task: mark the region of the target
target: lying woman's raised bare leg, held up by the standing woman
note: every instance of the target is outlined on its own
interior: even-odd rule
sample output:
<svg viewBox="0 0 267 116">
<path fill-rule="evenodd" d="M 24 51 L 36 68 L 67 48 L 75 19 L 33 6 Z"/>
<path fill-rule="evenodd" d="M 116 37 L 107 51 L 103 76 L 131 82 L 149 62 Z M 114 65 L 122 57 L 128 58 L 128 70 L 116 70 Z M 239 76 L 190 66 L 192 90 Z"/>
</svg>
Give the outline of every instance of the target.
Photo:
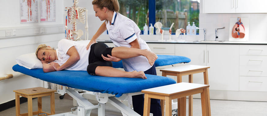
<svg viewBox="0 0 267 116">
<path fill-rule="evenodd" d="M 154 52 L 148 51 L 147 49 L 136 49 L 128 47 L 115 47 L 111 51 L 112 56 L 117 58 L 133 58 L 137 56 L 145 56 L 148 59 L 149 64 L 152 66 L 157 60 L 157 55 Z"/>
</svg>

